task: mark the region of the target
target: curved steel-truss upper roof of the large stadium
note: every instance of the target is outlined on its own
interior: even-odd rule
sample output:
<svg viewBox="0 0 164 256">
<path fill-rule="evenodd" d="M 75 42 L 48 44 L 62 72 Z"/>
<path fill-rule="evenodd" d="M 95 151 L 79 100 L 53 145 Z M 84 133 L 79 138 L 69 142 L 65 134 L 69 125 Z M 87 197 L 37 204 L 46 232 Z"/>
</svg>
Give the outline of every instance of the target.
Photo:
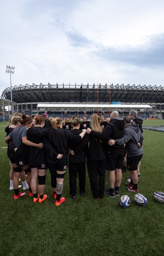
<svg viewBox="0 0 164 256">
<path fill-rule="evenodd" d="M 164 86 L 146 86 L 135 84 L 26 84 L 12 87 L 13 101 L 57 102 L 57 103 L 108 103 L 124 104 L 164 103 Z M 11 100 L 11 88 L 1 95 L 2 99 Z"/>
</svg>

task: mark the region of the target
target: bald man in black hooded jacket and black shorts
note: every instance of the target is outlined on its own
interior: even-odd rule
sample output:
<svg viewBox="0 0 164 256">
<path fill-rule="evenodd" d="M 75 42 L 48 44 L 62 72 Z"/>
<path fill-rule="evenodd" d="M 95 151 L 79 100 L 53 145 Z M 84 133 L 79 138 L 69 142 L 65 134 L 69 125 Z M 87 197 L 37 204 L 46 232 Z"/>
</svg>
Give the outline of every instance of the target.
<svg viewBox="0 0 164 256">
<path fill-rule="evenodd" d="M 102 132 L 95 132 L 91 131 L 91 129 L 87 129 L 87 133 L 90 133 L 99 140 L 108 141 L 110 138 L 119 139 L 124 136 L 124 121 L 119 118 L 119 113 L 117 111 L 113 111 L 110 114 L 109 124 L 103 128 Z M 124 146 L 116 145 L 115 147 L 110 147 L 106 143 L 105 154 L 107 154 L 107 170 L 110 189 L 105 190 L 104 193 L 105 195 L 114 198 L 119 196 L 119 187 L 121 186 Z M 116 187 L 114 188 L 115 182 Z"/>
</svg>

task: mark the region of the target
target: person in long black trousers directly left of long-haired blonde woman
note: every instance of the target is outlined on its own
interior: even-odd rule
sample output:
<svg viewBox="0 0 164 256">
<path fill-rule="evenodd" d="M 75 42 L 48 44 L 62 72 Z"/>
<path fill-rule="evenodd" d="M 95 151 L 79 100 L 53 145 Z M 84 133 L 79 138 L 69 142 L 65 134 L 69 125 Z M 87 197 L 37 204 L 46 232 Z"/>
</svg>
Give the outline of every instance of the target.
<svg viewBox="0 0 164 256">
<path fill-rule="evenodd" d="M 80 120 L 75 118 L 72 121 L 71 133 L 79 135 L 82 131 L 80 130 Z M 89 135 L 86 134 L 83 140 L 78 143 L 70 143 L 70 155 L 69 155 L 69 178 L 70 178 L 70 196 L 75 199 L 77 193 L 77 173 L 79 181 L 79 192 L 83 196 L 86 191 L 86 154 L 89 142 Z"/>
</svg>

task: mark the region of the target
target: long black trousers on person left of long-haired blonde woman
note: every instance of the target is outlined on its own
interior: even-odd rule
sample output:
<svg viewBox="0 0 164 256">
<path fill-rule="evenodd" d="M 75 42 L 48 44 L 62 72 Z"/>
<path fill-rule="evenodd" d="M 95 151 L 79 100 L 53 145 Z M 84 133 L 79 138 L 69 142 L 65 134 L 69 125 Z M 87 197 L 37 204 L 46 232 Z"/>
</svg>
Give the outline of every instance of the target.
<svg viewBox="0 0 164 256">
<path fill-rule="evenodd" d="M 77 193 L 77 173 L 79 180 L 79 191 L 84 193 L 86 188 L 86 162 L 69 162 L 70 195 L 72 196 L 75 196 Z"/>
</svg>

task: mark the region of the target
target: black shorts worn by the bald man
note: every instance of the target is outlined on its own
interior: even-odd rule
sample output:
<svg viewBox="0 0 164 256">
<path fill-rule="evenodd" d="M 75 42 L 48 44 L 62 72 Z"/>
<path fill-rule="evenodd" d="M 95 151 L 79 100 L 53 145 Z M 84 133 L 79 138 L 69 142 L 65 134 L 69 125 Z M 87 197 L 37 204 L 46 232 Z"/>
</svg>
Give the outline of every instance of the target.
<svg viewBox="0 0 164 256">
<path fill-rule="evenodd" d="M 117 169 L 123 169 L 123 160 L 124 160 L 124 152 L 123 154 L 107 154 L 107 170 L 114 171 Z"/>
</svg>

